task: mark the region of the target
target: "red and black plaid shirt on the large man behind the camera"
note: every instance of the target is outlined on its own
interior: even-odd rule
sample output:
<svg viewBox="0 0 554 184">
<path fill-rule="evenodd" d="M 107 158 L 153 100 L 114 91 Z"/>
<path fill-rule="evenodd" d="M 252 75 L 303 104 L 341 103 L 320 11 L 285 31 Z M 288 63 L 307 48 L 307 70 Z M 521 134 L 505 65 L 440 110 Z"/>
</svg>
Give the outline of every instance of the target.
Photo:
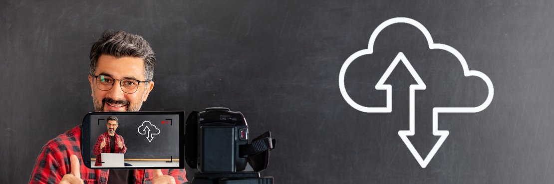
<svg viewBox="0 0 554 184">
<path fill-rule="evenodd" d="M 59 183 L 61 177 L 71 173 L 69 156 L 79 158 L 81 179 L 84 183 L 106 184 L 109 170 L 94 170 L 83 165 L 81 156 L 81 125 L 58 135 L 42 147 L 37 163 L 31 173 L 29 183 Z M 187 182 L 186 172 L 182 169 L 162 170 L 164 175 L 175 178 L 177 183 Z M 135 184 L 152 183 L 153 170 L 135 170 Z"/>
</svg>

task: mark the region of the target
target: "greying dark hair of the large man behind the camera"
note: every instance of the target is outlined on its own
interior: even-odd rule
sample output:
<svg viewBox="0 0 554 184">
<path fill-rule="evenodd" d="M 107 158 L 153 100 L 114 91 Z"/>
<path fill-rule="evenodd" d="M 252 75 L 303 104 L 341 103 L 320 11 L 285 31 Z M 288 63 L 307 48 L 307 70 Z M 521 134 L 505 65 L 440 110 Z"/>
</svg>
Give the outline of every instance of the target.
<svg viewBox="0 0 554 184">
<path fill-rule="evenodd" d="M 144 60 L 146 80 L 152 80 L 154 76 L 154 65 L 156 58 L 150 44 L 146 42 L 140 35 L 126 33 L 122 30 L 114 32 L 114 30 L 105 30 L 102 37 L 93 43 L 90 48 L 90 75 L 94 75 L 96 63 L 100 55 L 106 54 L 116 58 L 121 57 L 137 57 Z"/>
</svg>

